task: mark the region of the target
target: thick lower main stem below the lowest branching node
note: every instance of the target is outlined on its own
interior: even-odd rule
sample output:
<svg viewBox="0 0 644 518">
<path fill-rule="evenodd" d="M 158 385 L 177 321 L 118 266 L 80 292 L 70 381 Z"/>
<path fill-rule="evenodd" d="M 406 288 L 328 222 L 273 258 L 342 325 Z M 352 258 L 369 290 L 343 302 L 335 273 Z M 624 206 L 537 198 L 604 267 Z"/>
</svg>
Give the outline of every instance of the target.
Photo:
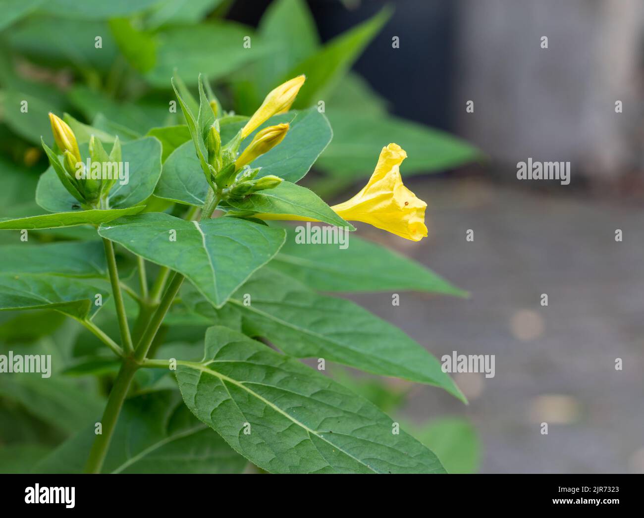
<svg viewBox="0 0 644 518">
<path fill-rule="evenodd" d="M 137 369 L 138 365 L 135 362 L 126 360 L 118 371 L 112 390 L 109 393 L 108 404 L 100 419 L 101 433 L 96 436 L 91 445 L 90 456 L 85 465 L 86 473 L 100 473 L 103 467 L 103 461 L 108 453 L 109 442 L 117 424 L 118 414 L 128 395 L 129 384 Z"/>
</svg>

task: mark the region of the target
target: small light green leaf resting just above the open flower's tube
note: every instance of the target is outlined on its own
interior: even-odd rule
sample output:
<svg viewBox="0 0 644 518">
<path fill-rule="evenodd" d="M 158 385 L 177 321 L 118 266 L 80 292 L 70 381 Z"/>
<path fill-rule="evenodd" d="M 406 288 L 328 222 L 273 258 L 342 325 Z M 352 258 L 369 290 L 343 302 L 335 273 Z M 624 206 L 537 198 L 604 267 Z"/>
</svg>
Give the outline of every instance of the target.
<svg viewBox="0 0 644 518">
<path fill-rule="evenodd" d="M 239 210 L 268 214 L 294 214 L 324 221 L 336 227 L 355 230 L 354 226 L 338 216 L 317 194 L 306 187 L 283 181 L 274 189 L 260 190 L 241 200 L 229 200 Z M 363 263 L 364 267 L 364 263 Z"/>
</svg>

